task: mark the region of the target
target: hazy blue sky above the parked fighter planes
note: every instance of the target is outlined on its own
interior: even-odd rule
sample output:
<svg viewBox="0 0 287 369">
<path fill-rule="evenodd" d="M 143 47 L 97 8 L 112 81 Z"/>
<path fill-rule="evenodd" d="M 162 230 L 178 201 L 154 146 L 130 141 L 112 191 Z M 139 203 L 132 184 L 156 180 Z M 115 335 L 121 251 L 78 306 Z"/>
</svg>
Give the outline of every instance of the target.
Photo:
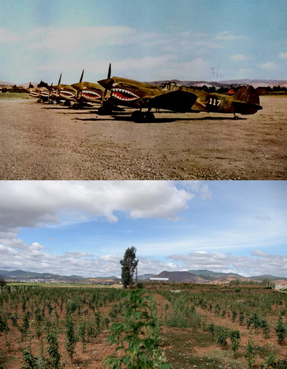
<svg viewBox="0 0 287 369">
<path fill-rule="evenodd" d="M 287 79 L 285 0 L 0 1 L 0 80 Z"/>
</svg>

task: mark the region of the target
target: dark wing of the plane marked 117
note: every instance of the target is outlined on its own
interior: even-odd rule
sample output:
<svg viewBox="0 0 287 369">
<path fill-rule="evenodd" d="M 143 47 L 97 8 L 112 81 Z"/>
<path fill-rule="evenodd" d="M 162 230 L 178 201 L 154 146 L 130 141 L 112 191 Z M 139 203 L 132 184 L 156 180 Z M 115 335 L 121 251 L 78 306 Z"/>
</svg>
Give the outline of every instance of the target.
<svg viewBox="0 0 287 369">
<path fill-rule="evenodd" d="M 163 95 L 151 97 L 147 99 L 147 106 L 149 108 L 158 108 L 173 110 L 178 113 L 186 113 L 191 110 L 192 105 L 195 104 L 197 95 L 187 91 L 172 91 Z"/>
</svg>

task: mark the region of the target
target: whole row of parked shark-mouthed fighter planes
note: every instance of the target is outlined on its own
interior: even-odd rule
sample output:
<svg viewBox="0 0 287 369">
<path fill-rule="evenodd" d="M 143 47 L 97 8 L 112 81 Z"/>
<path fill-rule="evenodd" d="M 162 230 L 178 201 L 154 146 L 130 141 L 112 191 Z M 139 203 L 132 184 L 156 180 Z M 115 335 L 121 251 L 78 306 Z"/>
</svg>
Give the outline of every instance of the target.
<svg viewBox="0 0 287 369">
<path fill-rule="evenodd" d="M 122 107 L 134 108 L 131 118 L 135 122 L 153 122 L 152 109 L 177 113 L 233 113 L 235 119 L 238 119 L 236 113 L 251 115 L 262 109 L 259 95 L 251 85 L 243 86 L 233 95 L 223 95 L 175 83 L 152 85 L 122 77 L 111 78 L 110 65 L 107 78 L 98 83 L 83 82 L 83 74 L 84 71 L 79 83 L 73 85 L 61 84 L 61 74 L 58 85 L 32 88 L 30 95 L 38 102 L 63 102 L 65 106 L 73 103 L 73 108 L 98 104 L 101 115 L 113 114 Z"/>
</svg>

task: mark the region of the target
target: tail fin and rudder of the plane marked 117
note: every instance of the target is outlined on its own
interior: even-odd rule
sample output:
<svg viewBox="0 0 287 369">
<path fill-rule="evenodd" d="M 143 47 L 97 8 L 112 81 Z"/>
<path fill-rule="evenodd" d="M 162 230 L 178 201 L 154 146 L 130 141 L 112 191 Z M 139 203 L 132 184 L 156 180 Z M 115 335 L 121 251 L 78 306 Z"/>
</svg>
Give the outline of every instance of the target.
<svg viewBox="0 0 287 369">
<path fill-rule="evenodd" d="M 234 95 L 232 95 L 233 106 L 236 108 L 236 113 L 240 114 L 254 114 L 257 110 L 261 110 L 259 94 L 253 86 L 247 85 L 240 88 Z"/>
</svg>

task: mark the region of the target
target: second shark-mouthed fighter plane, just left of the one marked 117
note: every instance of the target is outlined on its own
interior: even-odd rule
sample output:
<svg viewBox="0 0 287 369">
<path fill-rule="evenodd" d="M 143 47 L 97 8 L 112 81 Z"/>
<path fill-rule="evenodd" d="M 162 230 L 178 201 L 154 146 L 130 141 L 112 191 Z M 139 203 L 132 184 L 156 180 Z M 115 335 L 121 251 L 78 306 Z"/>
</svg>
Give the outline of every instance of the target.
<svg viewBox="0 0 287 369">
<path fill-rule="evenodd" d="M 81 106 L 90 106 L 89 104 L 101 104 L 103 101 L 104 88 L 98 83 L 82 82 L 83 73 L 79 83 L 74 83 L 72 88 L 77 91 L 76 103 L 73 108 L 81 108 Z"/>
</svg>

